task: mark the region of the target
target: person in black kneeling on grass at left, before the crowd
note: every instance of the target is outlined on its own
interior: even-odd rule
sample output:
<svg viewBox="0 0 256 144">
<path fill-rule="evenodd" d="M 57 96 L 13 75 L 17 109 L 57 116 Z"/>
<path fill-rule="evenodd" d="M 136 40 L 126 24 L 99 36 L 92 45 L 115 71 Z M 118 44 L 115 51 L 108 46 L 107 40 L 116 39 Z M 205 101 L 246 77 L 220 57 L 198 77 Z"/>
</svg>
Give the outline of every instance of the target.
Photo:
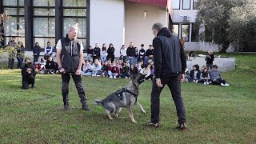
<svg viewBox="0 0 256 144">
<path fill-rule="evenodd" d="M 36 72 L 30 62 L 30 58 L 25 59 L 25 65 L 22 67 L 22 89 L 28 89 L 29 85 L 32 84 L 34 88 L 34 79 Z"/>
</svg>

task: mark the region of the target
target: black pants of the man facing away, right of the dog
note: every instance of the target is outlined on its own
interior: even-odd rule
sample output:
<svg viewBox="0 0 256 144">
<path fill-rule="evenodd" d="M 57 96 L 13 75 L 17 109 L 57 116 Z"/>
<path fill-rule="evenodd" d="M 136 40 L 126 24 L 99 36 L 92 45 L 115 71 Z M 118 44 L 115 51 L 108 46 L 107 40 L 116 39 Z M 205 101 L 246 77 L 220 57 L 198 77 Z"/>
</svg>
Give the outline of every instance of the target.
<svg viewBox="0 0 256 144">
<path fill-rule="evenodd" d="M 160 93 L 164 86 L 167 85 L 176 106 L 178 124 L 186 123 L 186 110 L 182 100 L 180 75 L 161 78 L 161 82 L 163 86 L 160 88 L 157 86 L 155 78 L 153 80 L 151 92 L 151 122 L 159 122 Z"/>
</svg>

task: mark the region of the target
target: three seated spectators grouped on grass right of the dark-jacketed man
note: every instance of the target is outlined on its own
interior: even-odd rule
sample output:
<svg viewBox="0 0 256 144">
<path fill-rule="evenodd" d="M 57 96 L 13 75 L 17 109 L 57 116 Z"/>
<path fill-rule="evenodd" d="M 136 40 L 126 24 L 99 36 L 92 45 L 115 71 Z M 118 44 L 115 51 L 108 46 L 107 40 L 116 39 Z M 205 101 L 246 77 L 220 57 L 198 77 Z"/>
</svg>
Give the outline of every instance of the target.
<svg viewBox="0 0 256 144">
<path fill-rule="evenodd" d="M 206 66 L 202 66 L 202 69 L 199 70 L 198 65 L 193 66 L 193 70 L 190 71 L 190 74 L 186 72 L 186 81 L 185 82 L 202 82 L 204 85 L 219 85 L 219 86 L 230 86 L 226 83 L 226 80 L 222 78 L 221 72 L 218 70 L 218 66 L 214 65 L 213 70 L 209 70 Z"/>
</svg>

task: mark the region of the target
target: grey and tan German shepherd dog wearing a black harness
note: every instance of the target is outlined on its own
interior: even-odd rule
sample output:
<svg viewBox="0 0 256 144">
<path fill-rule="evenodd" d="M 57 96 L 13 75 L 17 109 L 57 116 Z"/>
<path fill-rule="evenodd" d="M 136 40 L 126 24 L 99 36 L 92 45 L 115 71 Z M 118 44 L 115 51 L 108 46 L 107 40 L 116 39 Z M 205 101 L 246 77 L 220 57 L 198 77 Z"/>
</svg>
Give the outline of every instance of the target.
<svg viewBox="0 0 256 144">
<path fill-rule="evenodd" d="M 111 114 L 114 114 L 115 117 L 118 117 L 118 113 L 122 110 L 122 107 L 128 109 L 128 114 L 132 122 L 136 123 L 134 120 L 134 114 L 131 110 L 132 105 L 136 105 L 142 110 L 142 113 L 146 114 L 146 111 L 143 109 L 142 105 L 137 102 L 139 87 L 142 82 L 145 80 L 145 75 L 143 74 L 134 74 L 131 76 L 131 80 L 127 86 L 118 90 L 105 99 L 95 100 L 95 103 L 102 105 L 106 110 L 106 115 L 110 120 L 112 120 Z"/>
</svg>

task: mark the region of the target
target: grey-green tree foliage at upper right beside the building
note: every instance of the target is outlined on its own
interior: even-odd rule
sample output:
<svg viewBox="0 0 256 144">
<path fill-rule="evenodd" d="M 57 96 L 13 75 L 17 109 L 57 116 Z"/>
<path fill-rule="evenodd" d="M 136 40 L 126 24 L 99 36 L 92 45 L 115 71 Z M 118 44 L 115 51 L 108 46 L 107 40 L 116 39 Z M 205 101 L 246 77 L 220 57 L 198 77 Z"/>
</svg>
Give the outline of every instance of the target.
<svg viewBox="0 0 256 144">
<path fill-rule="evenodd" d="M 254 0 L 198 0 L 197 7 L 196 22 L 205 24 L 202 40 L 217 44 L 221 52 L 230 44 L 250 43 L 243 36 L 255 34 Z"/>
</svg>

